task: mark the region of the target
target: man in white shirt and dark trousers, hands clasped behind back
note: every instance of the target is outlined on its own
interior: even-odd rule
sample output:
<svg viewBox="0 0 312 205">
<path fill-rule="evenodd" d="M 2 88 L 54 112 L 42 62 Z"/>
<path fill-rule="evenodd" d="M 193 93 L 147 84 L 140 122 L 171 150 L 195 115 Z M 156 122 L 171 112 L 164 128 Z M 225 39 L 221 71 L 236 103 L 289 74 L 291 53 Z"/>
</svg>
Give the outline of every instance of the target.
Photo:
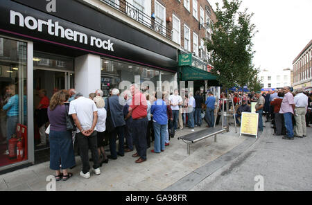
<svg viewBox="0 0 312 205">
<path fill-rule="evenodd" d="M 97 150 L 97 133 L 95 129 L 98 121 L 98 109 L 93 100 L 85 98 L 81 93 L 77 93 L 76 98 L 69 105 L 69 115 L 73 117 L 73 121 L 77 127 L 80 157 L 83 162 L 83 170 L 80 172 L 80 176 L 89 178 L 89 149 L 92 152 L 92 159 L 94 161 L 94 172 L 96 175 L 101 174 Z"/>
</svg>

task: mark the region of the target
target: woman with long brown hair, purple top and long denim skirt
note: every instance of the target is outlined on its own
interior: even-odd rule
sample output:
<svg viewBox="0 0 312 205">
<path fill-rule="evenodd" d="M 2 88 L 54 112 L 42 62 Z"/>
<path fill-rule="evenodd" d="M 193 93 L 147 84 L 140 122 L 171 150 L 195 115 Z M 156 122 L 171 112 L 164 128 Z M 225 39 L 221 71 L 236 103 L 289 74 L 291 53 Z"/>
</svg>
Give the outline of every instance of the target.
<svg viewBox="0 0 312 205">
<path fill-rule="evenodd" d="M 66 181 L 72 177 L 73 174 L 67 172 L 67 168 L 76 166 L 71 131 L 66 129 L 68 107 L 64 105 L 64 102 L 68 99 L 69 93 L 67 90 L 58 91 L 52 96 L 48 108 L 50 121 L 50 168 L 56 172 L 56 181 L 60 181 L 60 179 Z M 62 166 L 62 175 L 60 173 L 60 165 Z"/>
</svg>

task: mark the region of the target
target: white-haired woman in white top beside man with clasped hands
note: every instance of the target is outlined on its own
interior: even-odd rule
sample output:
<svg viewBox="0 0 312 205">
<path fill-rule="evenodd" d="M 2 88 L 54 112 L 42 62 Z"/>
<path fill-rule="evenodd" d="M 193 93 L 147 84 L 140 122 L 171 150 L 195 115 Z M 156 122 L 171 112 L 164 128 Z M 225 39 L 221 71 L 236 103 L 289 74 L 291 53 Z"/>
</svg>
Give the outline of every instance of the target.
<svg viewBox="0 0 312 205">
<path fill-rule="evenodd" d="M 105 139 L 105 123 L 106 123 L 106 109 L 104 108 L 105 102 L 101 96 L 96 96 L 93 98 L 94 103 L 96 104 L 96 107 L 98 108 L 98 122 L 96 123 L 96 131 L 98 132 L 97 141 L 98 141 L 98 160 L 100 163 L 100 166 L 102 166 L 102 163 L 107 163 L 108 158 L 105 154 L 104 150 L 104 141 L 107 141 Z M 102 154 L 102 155 L 101 155 Z M 101 157 L 102 156 L 102 157 Z M 102 159 L 101 159 L 102 158 Z"/>
</svg>

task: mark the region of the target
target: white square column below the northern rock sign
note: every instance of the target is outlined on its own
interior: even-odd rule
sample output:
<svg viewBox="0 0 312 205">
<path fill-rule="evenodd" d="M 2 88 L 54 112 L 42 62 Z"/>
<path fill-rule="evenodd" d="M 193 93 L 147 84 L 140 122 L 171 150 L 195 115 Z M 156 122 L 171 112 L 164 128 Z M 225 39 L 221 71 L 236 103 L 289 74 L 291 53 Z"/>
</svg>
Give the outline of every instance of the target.
<svg viewBox="0 0 312 205">
<path fill-rule="evenodd" d="M 101 89 L 101 57 L 87 54 L 75 58 L 75 89 L 88 97 Z"/>
</svg>

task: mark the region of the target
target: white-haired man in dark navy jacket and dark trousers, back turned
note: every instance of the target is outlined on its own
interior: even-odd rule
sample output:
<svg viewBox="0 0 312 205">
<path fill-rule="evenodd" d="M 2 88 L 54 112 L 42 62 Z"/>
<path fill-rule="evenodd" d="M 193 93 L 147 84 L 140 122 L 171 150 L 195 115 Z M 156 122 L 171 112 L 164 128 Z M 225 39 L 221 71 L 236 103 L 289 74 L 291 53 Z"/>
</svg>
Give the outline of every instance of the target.
<svg viewBox="0 0 312 205">
<path fill-rule="evenodd" d="M 124 99 L 119 98 L 119 89 L 112 89 L 112 96 L 105 99 L 105 109 L 107 118 L 111 118 L 114 130 L 110 133 L 110 155 L 109 159 L 117 159 L 117 154 L 124 156 L 124 133 L 125 133 L 125 118 L 123 116 Z M 109 108 L 108 108 L 109 107 Z M 109 119 L 107 119 L 109 120 Z M 116 139 L 118 134 L 119 150 L 116 152 Z"/>
</svg>

